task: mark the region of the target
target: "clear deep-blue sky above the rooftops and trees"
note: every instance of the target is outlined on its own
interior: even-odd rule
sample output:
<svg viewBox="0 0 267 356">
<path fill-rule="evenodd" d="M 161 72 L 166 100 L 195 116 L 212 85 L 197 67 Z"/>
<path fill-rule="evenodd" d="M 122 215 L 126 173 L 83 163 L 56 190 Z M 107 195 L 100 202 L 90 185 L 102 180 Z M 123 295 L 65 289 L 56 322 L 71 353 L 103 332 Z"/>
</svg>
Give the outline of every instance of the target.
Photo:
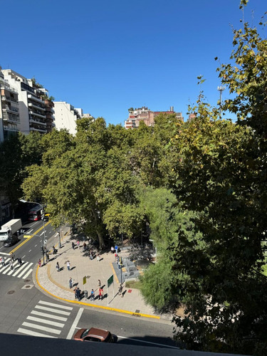
<svg viewBox="0 0 267 356">
<path fill-rule="evenodd" d="M 251 0 L 245 19 L 257 25 L 266 10 L 266 0 Z M 216 105 L 214 58 L 229 62 L 231 25 L 240 28 L 241 18 L 239 0 L 1 1 L 0 66 L 107 123 L 142 105 L 173 105 L 187 119 L 198 75 Z"/>
</svg>

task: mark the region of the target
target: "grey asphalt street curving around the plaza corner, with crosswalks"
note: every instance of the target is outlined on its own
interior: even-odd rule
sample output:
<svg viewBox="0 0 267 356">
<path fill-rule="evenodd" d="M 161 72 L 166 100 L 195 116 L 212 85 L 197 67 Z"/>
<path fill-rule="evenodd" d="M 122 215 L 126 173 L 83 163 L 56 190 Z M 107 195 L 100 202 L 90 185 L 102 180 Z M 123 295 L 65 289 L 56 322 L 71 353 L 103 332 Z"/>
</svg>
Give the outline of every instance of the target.
<svg viewBox="0 0 267 356">
<path fill-rule="evenodd" d="M 0 247 L 0 256 L 21 256 L 23 266 L 14 263 L 0 266 L 0 333 L 58 337 L 71 339 L 79 328 L 103 328 L 117 336 L 117 342 L 130 345 L 175 347 L 172 341 L 173 325 L 167 320 L 147 320 L 108 311 L 80 308 L 41 293 L 33 283 L 33 269 L 41 258 L 41 244 L 45 234 L 47 246 L 57 242 L 56 232 L 46 222 L 31 222 L 23 226 L 24 236 L 11 248 Z M 54 237 L 54 239 L 53 239 Z"/>
</svg>

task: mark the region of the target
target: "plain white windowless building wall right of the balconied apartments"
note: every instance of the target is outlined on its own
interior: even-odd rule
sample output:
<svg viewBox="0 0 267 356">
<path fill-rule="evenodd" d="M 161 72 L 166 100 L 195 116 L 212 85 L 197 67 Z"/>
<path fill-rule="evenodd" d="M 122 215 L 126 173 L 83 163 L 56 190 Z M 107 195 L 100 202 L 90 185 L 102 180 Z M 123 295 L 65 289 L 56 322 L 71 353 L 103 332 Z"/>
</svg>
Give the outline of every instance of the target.
<svg viewBox="0 0 267 356">
<path fill-rule="evenodd" d="M 54 105 L 56 129 L 67 129 L 70 134 L 75 135 L 76 120 L 83 115 L 83 109 L 76 109 L 66 101 L 55 101 Z"/>
</svg>

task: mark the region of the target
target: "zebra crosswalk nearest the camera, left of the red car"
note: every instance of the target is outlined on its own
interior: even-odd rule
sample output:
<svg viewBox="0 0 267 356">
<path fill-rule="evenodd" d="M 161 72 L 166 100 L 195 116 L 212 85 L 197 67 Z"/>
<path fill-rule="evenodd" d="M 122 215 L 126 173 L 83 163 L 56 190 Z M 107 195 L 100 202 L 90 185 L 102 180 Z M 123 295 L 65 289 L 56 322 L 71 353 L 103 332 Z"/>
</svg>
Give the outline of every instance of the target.
<svg viewBox="0 0 267 356">
<path fill-rule="evenodd" d="M 73 308 L 67 305 L 39 300 L 26 321 L 22 323 L 21 328 L 18 329 L 18 333 L 57 338 L 61 335 L 71 310 Z"/>
</svg>

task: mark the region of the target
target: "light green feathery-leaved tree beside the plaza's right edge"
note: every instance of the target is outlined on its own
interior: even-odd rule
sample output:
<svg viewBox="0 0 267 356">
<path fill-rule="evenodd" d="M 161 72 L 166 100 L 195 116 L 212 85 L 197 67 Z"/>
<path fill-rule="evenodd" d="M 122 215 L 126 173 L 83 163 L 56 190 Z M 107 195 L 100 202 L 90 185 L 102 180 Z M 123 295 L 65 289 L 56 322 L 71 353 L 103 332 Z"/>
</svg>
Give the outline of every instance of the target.
<svg viewBox="0 0 267 356">
<path fill-rule="evenodd" d="M 186 239 L 192 253 L 197 253 L 199 246 L 203 248 L 201 234 L 194 232 L 195 214 L 182 210 L 174 194 L 165 188 L 143 189 L 140 201 L 140 209 L 144 210 L 150 225 L 150 239 L 157 247 L 157 263 L 147 268 L 141 278 L 142 295 L 159 312 L 174 312 L 185 302 L 181 292 L 188 278 L 177 268 L 179 252 L 173 246 L 177 246 L 179 239 Z"/>
</svg>

